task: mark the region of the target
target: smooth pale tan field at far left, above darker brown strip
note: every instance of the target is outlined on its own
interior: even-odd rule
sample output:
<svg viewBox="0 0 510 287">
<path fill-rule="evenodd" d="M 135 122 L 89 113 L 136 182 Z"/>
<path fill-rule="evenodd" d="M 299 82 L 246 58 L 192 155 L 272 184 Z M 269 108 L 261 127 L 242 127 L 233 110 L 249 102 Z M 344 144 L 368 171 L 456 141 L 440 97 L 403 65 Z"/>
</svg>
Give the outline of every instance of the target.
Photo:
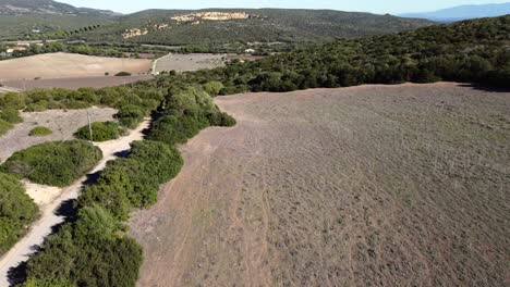
<svg viewBox="0 0 510 287">
<path fill-rule="evenodd" d="M 90 77 L 106 72 L 146 74 L 153 67 L 150 60 L 92 57 L 72 53 L 49 53 L 0 61 L 0 80 Z"/>
</svg>

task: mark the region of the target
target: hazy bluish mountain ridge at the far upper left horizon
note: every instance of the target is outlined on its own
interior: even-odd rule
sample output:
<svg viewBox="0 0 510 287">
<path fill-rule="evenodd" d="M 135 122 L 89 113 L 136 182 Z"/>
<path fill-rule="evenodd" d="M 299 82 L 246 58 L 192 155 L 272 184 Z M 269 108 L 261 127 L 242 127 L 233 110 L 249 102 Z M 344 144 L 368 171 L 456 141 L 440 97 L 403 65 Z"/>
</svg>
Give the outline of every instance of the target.
<svg viewBox="0 0 510 287">
<path fill-rule="evenodd" d="M 96 10 L 88 8 L 75 8 L 70 4 L 52 0 L 0 0 L 0 15 L 110 15 L 119 13 L 108 10 Z"/>
</svg>

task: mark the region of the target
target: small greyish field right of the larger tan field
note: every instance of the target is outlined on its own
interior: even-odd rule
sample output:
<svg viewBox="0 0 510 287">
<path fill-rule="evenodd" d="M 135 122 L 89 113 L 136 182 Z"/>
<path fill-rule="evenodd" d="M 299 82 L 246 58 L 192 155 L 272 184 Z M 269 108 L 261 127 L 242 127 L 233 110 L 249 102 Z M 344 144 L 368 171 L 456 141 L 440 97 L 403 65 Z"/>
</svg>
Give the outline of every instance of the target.
<svg viewBox="0 0 510 287">
<path fill-rule="evenodd" d="M 208 53 L 167 54 L 156 61 L 154 72 L 186 72 L 202 68 L 214 68 L 222 66 L 224 64 L 226 57 L 227 54 Z"/>
</svg>

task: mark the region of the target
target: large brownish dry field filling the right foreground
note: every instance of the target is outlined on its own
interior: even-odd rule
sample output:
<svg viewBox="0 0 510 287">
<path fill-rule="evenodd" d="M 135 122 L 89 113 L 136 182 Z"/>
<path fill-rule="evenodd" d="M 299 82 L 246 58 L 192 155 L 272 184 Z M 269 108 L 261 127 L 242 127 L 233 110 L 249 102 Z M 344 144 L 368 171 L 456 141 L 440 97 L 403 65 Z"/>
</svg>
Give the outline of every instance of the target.
<svg viewBox="0 0 510 287">
<path fill-rule="evenodd" d="M 217 98 L 234 128 L 134 214 L 139 286 L 508 286 L 510 93 L 457 84 Z"/>
</svg>

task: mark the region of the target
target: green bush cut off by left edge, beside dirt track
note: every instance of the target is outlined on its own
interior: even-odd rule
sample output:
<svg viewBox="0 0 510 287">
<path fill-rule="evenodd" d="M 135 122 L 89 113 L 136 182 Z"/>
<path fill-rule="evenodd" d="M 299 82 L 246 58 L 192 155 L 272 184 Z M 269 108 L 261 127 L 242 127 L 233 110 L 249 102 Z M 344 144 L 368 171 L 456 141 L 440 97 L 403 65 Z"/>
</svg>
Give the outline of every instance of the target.
<svg viewBox="0 0 510 287">
<path fill-rule="evenodd" d="M 22 237 L 38 214 L 17 178 L 0 173 L 0 255 Z"/>
</svg>

